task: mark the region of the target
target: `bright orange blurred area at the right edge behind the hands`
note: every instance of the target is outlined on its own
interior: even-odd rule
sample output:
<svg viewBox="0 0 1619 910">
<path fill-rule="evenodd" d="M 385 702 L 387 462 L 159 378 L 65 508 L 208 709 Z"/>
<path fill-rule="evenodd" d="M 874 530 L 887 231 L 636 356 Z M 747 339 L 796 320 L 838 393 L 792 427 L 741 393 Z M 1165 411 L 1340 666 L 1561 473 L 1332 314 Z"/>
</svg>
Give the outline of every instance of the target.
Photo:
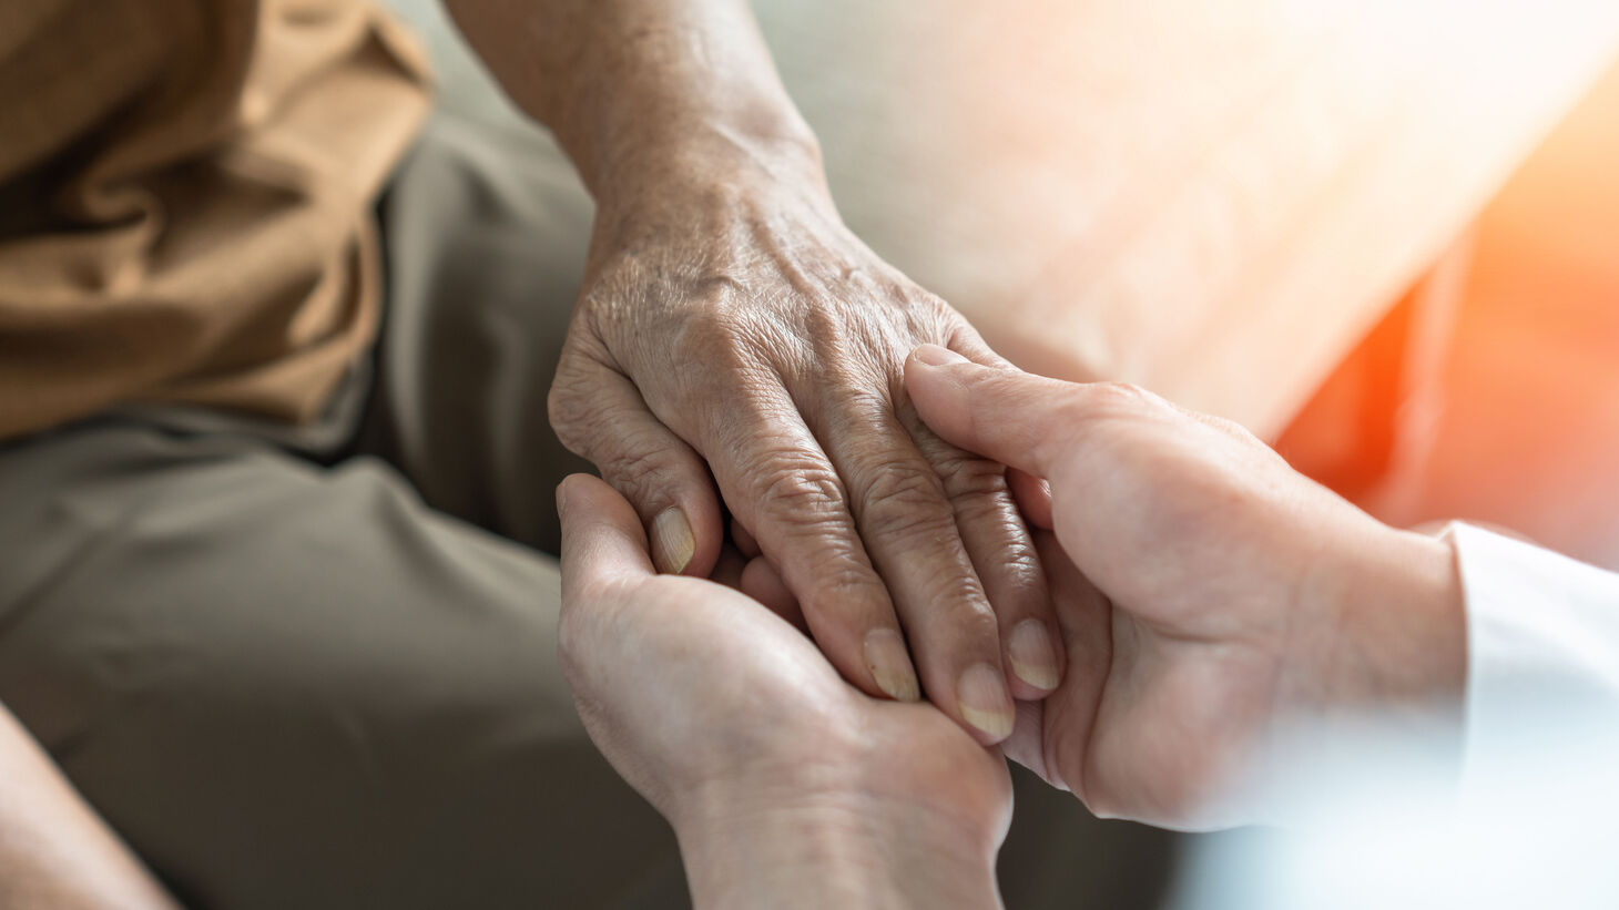
<svg viewBox="0 0 1619 910">
<path fill-rule="evenodd" d="M 1438 400 L 1431 419 L 1368 397 L 1394 379 L 1376 376 L 1384 325 L 1282 436 L 1289 460 L 1384 521 L 1485 521 L 1619 568 L 1616 162 L 1619 60 L 1470 232 L 1436 389 L 1415 389 Z M 1399 434 L 1392 453 L 1355 436 L 1375 421 Z"/>
</svg>

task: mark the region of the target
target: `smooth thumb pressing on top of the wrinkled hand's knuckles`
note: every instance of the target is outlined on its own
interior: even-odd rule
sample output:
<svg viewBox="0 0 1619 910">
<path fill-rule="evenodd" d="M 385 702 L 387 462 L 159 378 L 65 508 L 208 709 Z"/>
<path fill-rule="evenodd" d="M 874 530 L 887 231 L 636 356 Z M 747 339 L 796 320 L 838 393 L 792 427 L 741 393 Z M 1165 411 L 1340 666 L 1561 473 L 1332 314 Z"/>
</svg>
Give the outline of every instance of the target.
<svg viewBox="0 0 1619 910">
<path fill-rule="evenodd" d="M 941 439 L 1009 468 L 1049 478 L 1073 439 L 1085 385 L 979 366 L 923 345 L 905 361 L 905 389 Z"/>
</svg>

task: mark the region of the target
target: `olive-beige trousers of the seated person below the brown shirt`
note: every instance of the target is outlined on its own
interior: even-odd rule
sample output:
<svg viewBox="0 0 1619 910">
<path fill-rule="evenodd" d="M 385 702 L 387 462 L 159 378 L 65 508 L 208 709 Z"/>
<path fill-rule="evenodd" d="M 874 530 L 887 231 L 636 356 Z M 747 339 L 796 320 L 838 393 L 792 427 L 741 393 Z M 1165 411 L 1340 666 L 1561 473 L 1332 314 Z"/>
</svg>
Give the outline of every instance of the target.
<svg viewBox="0 0 1619 910">
<path fill-rule="evenodd" d="M 589 210 L 528 136 L 434 120 L 382 206 L 371 381 L 324 423 L 126 410 L 0 447 L 0 703 L 188 902 L 685 902 L 557 672 L 542 551 L 581 465 L 544 395 Z M 1012 907 L 1161 886 L 1154 832 L 1018 797 Z"/>
</svg>

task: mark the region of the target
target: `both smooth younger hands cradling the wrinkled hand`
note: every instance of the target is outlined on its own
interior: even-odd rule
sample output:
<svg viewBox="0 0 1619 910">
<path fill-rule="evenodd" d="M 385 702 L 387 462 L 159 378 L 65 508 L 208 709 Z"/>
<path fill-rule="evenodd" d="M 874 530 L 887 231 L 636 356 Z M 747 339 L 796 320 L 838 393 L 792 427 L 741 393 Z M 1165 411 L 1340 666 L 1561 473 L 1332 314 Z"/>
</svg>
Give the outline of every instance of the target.
<svg viewBox="0 0 1619 910">
<path fill-rule="evenodd" d="M 1227 787 L 1285 717 L 1460 691 L 1451 547 L 1375 521 L 1243 429 L 931 345 L 905 361 L 905 389 L 939 439 L 1012 468 L 1067 672 L 1018 703 L 1004 751 L 1093 811 L 1247 821 L 1255 806 Z M 835 881 L 848 850 L 865 894 L 931 881 L 941 902 L 973 904 L 992 887 L 1009 784 L 949 711 L 871 698 L 758 601 L 657 575 L 607 484 L 570 478 L 559 502 L 565 669 L 593 738 L 675 824 L 699 897 L 746 887 L 748 855 L 790 878 L 758 855 L 771 831 L 843 845 L 805 855 L 806 882 Z M 928 874 L 905 874 L 923 855 Z"/>
</svg>

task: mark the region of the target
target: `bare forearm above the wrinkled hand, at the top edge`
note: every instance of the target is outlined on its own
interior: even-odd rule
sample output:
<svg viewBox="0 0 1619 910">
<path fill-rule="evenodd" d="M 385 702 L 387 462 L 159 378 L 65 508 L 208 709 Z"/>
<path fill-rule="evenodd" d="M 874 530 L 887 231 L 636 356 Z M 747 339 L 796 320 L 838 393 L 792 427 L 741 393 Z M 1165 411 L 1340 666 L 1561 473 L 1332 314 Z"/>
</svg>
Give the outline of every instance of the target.
<svg viewBox="0 0 1619 910">
<path fill-rule="evenodd" d="M 814 138 L 745 0 L 445 5 L 507 94 L 557 133 L 597 201 L 738 155 L 819 180 Z"/>
</svg>

